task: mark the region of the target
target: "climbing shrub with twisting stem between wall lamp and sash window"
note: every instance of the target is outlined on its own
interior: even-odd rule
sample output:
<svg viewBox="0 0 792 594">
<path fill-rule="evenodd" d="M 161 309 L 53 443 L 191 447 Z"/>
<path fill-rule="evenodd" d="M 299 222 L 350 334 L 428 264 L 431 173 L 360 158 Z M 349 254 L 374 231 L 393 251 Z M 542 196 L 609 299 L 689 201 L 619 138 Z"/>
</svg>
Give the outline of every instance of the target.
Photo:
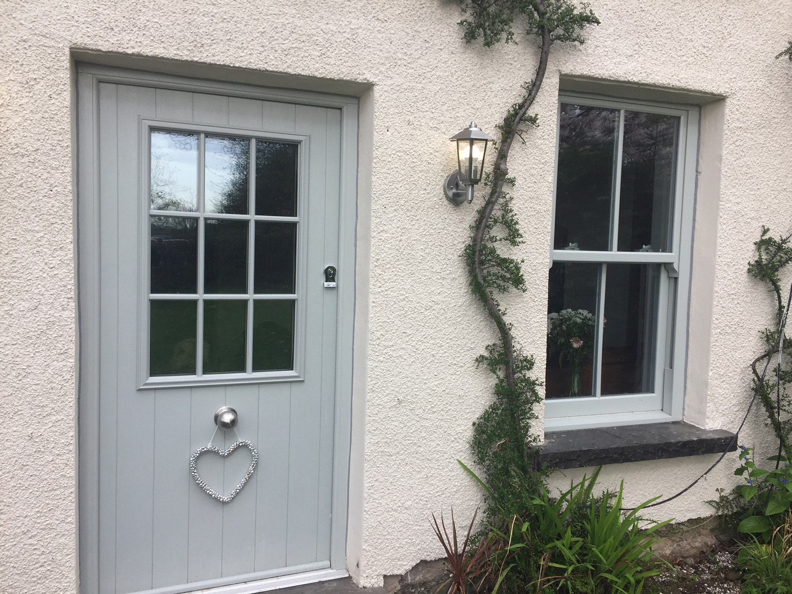
<svg viewBox="0 0 792 594">
<path fill-rule="evenodd" d="M 492 172 L 485 178 L 489 195 L 478 210 L 470 243 L 465 247 L 465 257 L 470 276 L 470 287 L 482 302 L 489 318 L 493 320 L 500 341 L 489 345 L 485 355 L 478 357 L 497 375 L 495 400 L 485 409 L 474 424 L 471 449 L 474 458 L 485 474 L 490 488 L 508 489 L 515 480 L 515 470 L 522 477 L 533 472 L 530 444 L 530 421 L 535 419 L 534 406 L 539 402 L 539 383 L 530 377 L 533 357 L 524 355 L 516 347 L 512 326 L 506 321 L 506 312 L 498 303 L 496 293 L 510 288 L 525 291 L 521 261 L 498 252 L 501 242 L 510 246 L 522 243 L 522 234 L 506 185 L 513 185 L 508 176 L 508 154 L 521 126 L 537 125 L 538 116 L 529 114 L 547 70 L 550 47 L 554 42 L 582 44 L 581 31 L 586 25 L 597 25 L 599 20 L 588 5 L 575 6 L 569 0 L 459 0 L 467 17 L 460 21 L 467 41 L 482 39 L 485 47 L 501 40 L 516 43 L 512 29 L 516 19 L 524 26 L 528 36 L 541 41 L 539 63 L 534 78 L 523 85 L 523 96 L 506 113 L 498 129 L 497 154 Z M 522 138 L 522 136 L 520 136 Z M 516 479 L 518 482 L 520 478 Z M 512 490 L 512 489 L 509 489 Z"/>
</svg>

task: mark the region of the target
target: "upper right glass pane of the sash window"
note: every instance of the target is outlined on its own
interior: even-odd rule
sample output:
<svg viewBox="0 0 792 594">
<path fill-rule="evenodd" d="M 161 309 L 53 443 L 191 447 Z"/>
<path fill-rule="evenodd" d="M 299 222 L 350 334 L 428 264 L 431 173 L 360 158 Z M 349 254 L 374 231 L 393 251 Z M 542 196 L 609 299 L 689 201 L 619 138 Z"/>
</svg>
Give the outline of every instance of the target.
<svg viewBox="0 0 792 594">
<path fill-rule="evenodd" d="M 624 112 L 619 251 L 668 252 L 680 119 Z"/>
</svg>

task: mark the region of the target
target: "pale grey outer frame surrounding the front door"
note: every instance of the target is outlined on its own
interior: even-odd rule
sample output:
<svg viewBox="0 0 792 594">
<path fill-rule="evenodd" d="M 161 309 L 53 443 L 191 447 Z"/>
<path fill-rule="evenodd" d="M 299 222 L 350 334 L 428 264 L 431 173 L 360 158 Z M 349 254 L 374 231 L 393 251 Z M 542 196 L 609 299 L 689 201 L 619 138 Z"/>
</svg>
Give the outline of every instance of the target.
<svg viewBox="0 0 792 594">
<path fill-rule="evenodd" d="M 358 111 L 357 97 L 270 89 L 200 78 L 181 78 L 90 63 L 76 63 L 76 228 L 78 280 L 78 543 L 81 592 L 97 592 L 99 527 L 99 160 L 98 88 L 101 82 L 193 93 L 219 94 L 299 105 L 316 105 L 341 110 L 341 177 L 339 245 L 337 268 L 336 383 L 333 432 L 333 505 L 330 527 L 330 569 L 291 579 L 274 577 L 258 580 L 242 577 L 247 584 L 221 588 L 223 592 L 244 594 L 321 581 L 347 575 L 347 523 L 349 457 L 352 439 L 352 339 L 355 316 L 356 218 Z M 330 263 L 332 264 L 332 263 Z M 185 462 L 185 472 L 187 472 Z M 320 575 L 321 574 L 321 575 Z M 256 581 L 249 581 L 256 579 Z M 212 588 L 230 584 L 220 578 L 215 584 L 194 584 Z M 179 590 L 180 592 L 183 590 Z"/>
</svg>

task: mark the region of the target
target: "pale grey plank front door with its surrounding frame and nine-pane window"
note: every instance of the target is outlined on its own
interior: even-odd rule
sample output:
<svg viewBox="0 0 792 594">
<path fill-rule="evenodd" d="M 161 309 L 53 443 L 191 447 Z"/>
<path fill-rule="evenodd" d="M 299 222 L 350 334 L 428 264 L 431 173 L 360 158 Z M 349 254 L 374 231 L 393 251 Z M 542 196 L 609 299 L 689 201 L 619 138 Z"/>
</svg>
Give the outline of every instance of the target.
<svg viewBox="0 0 792 594">
<path fill-rule="evenodd" d="M 82 592 L 343 570 L 353 104 L 101 73 L 78 74 Z M 225 504 L 188 470 L 221 406 L 212 443 L 259 455 Z M 250 463 L 198 470 L 226 495 Z"/>
</svg>

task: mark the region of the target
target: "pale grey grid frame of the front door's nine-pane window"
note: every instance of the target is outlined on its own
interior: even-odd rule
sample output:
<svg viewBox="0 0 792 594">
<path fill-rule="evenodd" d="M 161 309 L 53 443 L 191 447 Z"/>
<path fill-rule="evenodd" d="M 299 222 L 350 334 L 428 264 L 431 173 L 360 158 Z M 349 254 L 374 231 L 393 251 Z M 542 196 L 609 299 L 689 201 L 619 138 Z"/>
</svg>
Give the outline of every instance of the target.
<svg viewBox="0 0 792 594">
<path fill-rule="evenodd" d="M 251 141 L 251 152 L 248 162 L 248 215 L 227 215 L 221 213 L 211 213 L 205 211 L 204 196 L 204 142 L 199 141 L 198 150 L 198 185 L 197 185 L 197 204 L 196 211 L 158 211 L 150 205 L 150 161 L 151 144 L 150 135 L 152 131 L 174 131 L 188 134 L 197 134 L 200 139 L 206 136 L 227 136 L 234 138 L 245 138 Z M 306 319 L 307 301 L 303 295 L 306 294 L 307 287 L 307 267 L 305 258 L 307 257 L 307 204 L 308 196 L 308 172 L 305 166 L 305 155 L 309 154 L 310 137 L 308 135 L 287 134 L 270 131 L 254 131 L 244 128 L 234 128 L 231 126 L 212 126 L 204 124 L 192 124 L 176 122 L 171 120 L 140 120 L 140 147 L 139 147 L 139 178 L 140 188 L 143 195 L 139 200 L 140 224 L 139 224 L 139 330 L 138 330 L 138 390 L 156 390 L 166 387 L 200 387 L 215 385 L 232 385 L 240 383 L 272 383 L 272 382 L 302 382 L 305 372 L 305 350 L 306 350 L 306 328 L 303 320 Z M 297 150 L 297 212 L 295 217 L 256 215 L 255 214 L 255 140 L 294 143 L 298 145 Z M 150 273 L 151 273 L 151 249 L 150 249 L 150 217 L 151 216 L 180 216 L 194 218 L 198 221 L 198 248 L 196 255 L 196 266 L 198 267 L 198 287 L 202 276 L 200 271 L 204 267 L 204 220 L 223 219 L 223 220 L 243 220 L 249 223 L 248 227 L 248 291 L 239 294 L 206 294 L 201 290 L 197 294 L 176 294 L 158 295 L 150 292 Z M 255 234 L 255 224 L 258 221 L 274 222 L 293 222 L 297 224 L 297 245 L 295 254 L 295 293 L 254 293 L 252 272 L 254 268 L 254 244 L 253 235 Z M 252 348 L 252 304 L 261 299 L 291 299 L 295 301 L 294 318 L 294 344 L 292 345 L 293 367 L 287 371 L 242 371 L 234 373 L 208 373 L 200 375 L 150 375 L 150 314 L 149 303 L 151 299 L 177 299 L 197 301 L 196 318 L 196 363 L 201 362 L 203 335 L 203 303 L 209 300 L 238 300 L 248 302 L 247 322 L 246 322 L 246 367 L 249 366 Z M 198 371 L 200 367 L 196 369 Z"/>
</svg>

